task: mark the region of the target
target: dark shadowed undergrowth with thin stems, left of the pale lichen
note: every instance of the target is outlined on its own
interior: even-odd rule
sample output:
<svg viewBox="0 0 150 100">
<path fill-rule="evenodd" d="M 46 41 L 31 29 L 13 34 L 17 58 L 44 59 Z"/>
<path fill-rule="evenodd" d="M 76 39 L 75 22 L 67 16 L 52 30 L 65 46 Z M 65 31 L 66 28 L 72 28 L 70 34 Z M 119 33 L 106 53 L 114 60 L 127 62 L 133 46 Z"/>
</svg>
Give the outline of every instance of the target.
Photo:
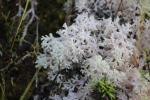
<svg viewBox="0 0 150 100">
<path fill-rule="evenodd" d="M 0 0 L 1 100 L 19 100 L 36 73 L 35 60 L 40 50 L 39 37 L 55 32 L 65 20 L 63 10 L 65 0 L 38 0 L 38 4 L 34 7 L 38 19 L 37 17 L 33 19 L 23 37 L 25 26 L 32 17 L 32 13 L 27 15 L 32 8 L 31 1 L 36 0 Z M 31 83 L 26 99 L 32 98 L 37 89 L 35 78 Z"/>
</svg>

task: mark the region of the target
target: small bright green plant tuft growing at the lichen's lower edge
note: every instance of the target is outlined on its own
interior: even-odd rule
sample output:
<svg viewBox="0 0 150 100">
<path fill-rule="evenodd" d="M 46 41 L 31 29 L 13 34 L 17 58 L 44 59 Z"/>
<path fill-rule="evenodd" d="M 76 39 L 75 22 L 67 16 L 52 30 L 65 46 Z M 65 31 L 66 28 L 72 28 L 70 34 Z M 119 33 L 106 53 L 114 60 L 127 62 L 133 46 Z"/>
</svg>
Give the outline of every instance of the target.
<svg viewBox="0 0 150 100">
<path fill-rule="evenodd" d="M 109 100 L 116 100 L 116 90 L 115 86 L 113 83 L 110 83 L 109 81 L 106 80 L 106 78 L 101 79 L 97 83 L 97 89 L 98 92 L 100 93 L 100 100 L 103 100 L 104 97 L 109 98 Z"/>
</svg>

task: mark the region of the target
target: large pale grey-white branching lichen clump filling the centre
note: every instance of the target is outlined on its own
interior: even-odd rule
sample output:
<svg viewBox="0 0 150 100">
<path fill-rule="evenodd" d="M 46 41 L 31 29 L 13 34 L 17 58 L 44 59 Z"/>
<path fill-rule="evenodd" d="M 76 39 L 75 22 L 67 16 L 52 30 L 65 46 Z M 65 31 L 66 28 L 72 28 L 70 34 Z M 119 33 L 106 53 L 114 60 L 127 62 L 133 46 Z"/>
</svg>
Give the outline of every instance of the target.
<svg viewBox="0 0 150 100">
<path fill-rule="evenodd" d="M 48 68 L 49 79 L 56 78 L 56 82 L 63 85 L 61 89 L 68 90 L 68 96 L 61 97 L 62 100 L 84 100 L 90 96 L 89 84 L 103 77 L 107 77 L 116 87 L 122 89 L 123 92 L 118 91 L 118 98 L 127 98 L 127 93 L 133 100 L 136 95 L 150 88 L 149 83 L 141 78 L 139 69 L 133 68 L 134 64 L 130 61 L 137 50 L 136 40 L 132 35 L 136 34 L 135 24 L 138 18 L 135 18 L 134 24 L 129 24 L 129 20 L 120 24 L 119 17 L 113 20 L 98 18 L 95 14 L 105 4 L 108 8 L 113 5 L 112 10 L 116 10 L 115 5 L 119 5 L 120 0 L 110 1 L 76 0 L 75 7 L 79 14 L 74 23 L 70 26 L 64 23 L 63 28 L 56 32 L 60 35 L 58 38 L 52 34 L 42 37 L 43 53 L 37 57 L 36 64 L 37 67 Z M 132 13 L 137 6 L 126 4 L 123 12 Z M 92 12 L 93 9 L 95 13 Z M 128 19 L 128 15 L 125 17 Z M 75 73 L 71 78 L 66 78 L 65 74 L 60 73 L 62 70 L 75 68 L 79 68 L 84 77 Z M 79 84 L 80 82 L 84 85 Z M 129 91 L 127 85 L 133 89 Z M 73 92 L 75 86 L 78 86 L 77 93 Z M 55 94 L 51 98 L 57 100 L 60 96 Z"/>
</svg>

